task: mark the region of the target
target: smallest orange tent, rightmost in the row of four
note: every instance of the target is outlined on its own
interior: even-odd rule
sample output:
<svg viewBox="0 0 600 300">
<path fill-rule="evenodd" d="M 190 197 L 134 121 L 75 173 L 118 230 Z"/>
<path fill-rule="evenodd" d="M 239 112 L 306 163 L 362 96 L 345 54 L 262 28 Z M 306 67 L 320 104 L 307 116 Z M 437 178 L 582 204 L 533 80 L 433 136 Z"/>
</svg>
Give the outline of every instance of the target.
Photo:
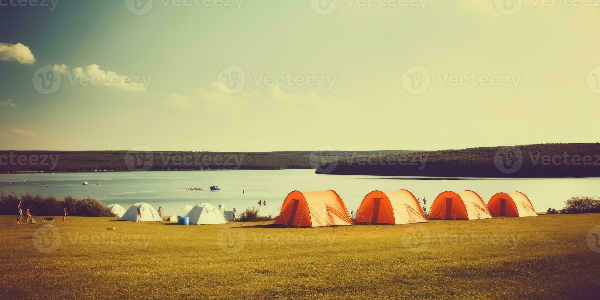
<svg viewBox="0 0 600 300">
<path fill-rule="evenodd" d="M 529 198 L 520 191 L 497 193 L 488 202 L 488 209 L 494 217 L 536 217 Z"/>
</svg>

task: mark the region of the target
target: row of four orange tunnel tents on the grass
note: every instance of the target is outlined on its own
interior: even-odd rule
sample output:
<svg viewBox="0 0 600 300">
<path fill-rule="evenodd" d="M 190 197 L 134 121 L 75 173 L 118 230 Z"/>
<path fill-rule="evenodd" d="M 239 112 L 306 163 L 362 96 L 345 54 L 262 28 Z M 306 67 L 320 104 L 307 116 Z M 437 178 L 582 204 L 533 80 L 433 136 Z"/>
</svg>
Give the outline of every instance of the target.
<svg viewBox="0 0 600 300">
<path fill-rule="evenodd" d="M 495 194 L 485 205 L 474 191 L 445 191 L 436 197 L 427 218 L 410 191 L 372 191 L 362 199 L 353 223 L 335 191 L 292 191 L 283 201 L 281 214 L 274 224 L 293 227 L 412 224 L 425 223 L 428 219 L 482 220 L 536 215 L 529 198 L 521 192 Z"/>
</svg>

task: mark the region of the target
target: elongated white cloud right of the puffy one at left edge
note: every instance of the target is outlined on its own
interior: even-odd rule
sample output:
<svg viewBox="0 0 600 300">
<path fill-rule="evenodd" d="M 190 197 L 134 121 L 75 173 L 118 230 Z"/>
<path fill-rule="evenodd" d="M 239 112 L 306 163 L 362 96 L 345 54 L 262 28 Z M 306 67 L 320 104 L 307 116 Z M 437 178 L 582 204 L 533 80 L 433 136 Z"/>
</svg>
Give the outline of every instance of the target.
<svg viewBox="0 0 600 300">
<path fill-rule="evenodd" d="M 61 70 L 62 66 L 55 65 L 55 68 Z M 82 84 L 86 82 L 86 85 L 111 86 L 128 91 L 145 91 L 152 79 L 152 76 L 120 75 L 113 71 L 104 71 L 97 64 L 74 68 L 71 71 Z"/>
</svg>

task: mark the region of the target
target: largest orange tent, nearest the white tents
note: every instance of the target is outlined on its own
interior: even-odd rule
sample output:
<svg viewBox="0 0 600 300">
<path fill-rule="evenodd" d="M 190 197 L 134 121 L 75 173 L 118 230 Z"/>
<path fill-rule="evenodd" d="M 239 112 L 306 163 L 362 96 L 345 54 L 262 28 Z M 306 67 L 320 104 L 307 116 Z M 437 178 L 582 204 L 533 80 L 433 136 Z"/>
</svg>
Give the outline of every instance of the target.
<svg viewBox="0 0 600 300">
<path fill-rule="evenodd" d="M 273 224 L 321 227 L 352 225 L 352 221 L 335 191 L 293 191 L 283 201 L 281 214 Z"/>
</svg>

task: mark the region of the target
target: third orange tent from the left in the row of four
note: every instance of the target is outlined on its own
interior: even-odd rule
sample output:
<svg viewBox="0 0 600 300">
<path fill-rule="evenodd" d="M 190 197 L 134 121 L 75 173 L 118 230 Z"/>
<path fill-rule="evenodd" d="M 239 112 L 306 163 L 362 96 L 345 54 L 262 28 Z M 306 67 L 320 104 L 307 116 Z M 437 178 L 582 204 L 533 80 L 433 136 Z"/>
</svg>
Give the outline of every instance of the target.
<svg viewBox="0 0 600 300">
<path fill-rule="evenodd" d="M 484 200 L 474 191 L 445 191 L 433 200 L 430 220 L 481 220 L 491 218 Z"/>
</svg>

